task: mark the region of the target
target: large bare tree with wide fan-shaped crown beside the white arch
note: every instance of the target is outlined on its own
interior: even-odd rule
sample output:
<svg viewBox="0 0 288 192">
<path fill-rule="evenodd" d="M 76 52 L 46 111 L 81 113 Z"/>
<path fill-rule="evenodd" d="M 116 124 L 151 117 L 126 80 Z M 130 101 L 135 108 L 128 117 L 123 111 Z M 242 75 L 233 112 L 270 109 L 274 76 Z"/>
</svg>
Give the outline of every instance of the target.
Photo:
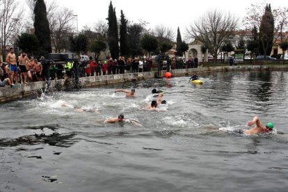
<svg viewBox="0 0 288 192">
<path fill-rule="evenodd" d="M 186 38 L 202 42 L 216 59 L 223 44 L 230 40 L 237 29 L 237 22 L 238 18 L 230 13 L 216 9 L 209 10 L 186 28 Z"/>
</svg>

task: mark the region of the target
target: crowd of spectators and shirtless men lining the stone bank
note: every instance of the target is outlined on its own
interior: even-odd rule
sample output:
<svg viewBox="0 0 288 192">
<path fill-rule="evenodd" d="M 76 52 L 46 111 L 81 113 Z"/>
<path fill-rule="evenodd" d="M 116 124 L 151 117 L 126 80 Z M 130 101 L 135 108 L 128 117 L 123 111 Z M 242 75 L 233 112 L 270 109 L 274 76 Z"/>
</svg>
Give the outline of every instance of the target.
<svg viewBox="0 0 288 192">
<path fill-rule="evenodd" d="M 90 58 L 91 59 L 91 58 Z M 76 67 L 78 65 L 78 67 Z M 1 85 L 6 79 L 6 86 L 14 83 L 29 83 L 50 79 L 64 79 L 74 77 L 75 70 L 78 70 L 79 77 L 93 77 L 106 74 L 124 74 L 135 72 L 150 72 L 155 70 L 174 70 L 198 67 L 198 58 L 169 58 L 168 56 L 157 56 L 157 58 L 136 56 L 125 58 L 120 56 L 118 59 L 107 57 L 106 60 L 83 61 L 74 63 L 67 61 L 58 63 L 47 61 L 41 57 L 39 61 L 33 57 L 29 58 L 22 51 L 18 57 L 15 56 L 14 49 L 6 57 L 6 63 L 1 63 L 0 78 Z M 10 80 L 8 82 L 7 78 Z"/>
</svg>

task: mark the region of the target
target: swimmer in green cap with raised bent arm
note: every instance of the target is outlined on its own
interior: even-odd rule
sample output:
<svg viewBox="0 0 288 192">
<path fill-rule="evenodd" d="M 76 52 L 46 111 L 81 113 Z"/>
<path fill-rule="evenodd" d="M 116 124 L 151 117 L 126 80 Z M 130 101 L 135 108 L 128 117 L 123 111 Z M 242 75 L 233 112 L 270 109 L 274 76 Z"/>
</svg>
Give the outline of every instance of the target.
<svg viewBox="0 0 288 192">
<path fill-rule="evenodd" d="M 259 133 L 264 133 L 264 132 L 268 132 L 273 130 L 273 122 L 268 122 L 265 126 L 262 124 L 262 122 L 260 122 L 259 118 L 257 116 L 255 116 L 253 118 L 253 120 L 250 120 L 248 122 L 248 126 L 252 126 L 254 125 L 254 123 L 256 123 L 256 127 L 249 129 L 249 130 L 245 130 L 244 134 L 259 134 Z"/>
</svg>

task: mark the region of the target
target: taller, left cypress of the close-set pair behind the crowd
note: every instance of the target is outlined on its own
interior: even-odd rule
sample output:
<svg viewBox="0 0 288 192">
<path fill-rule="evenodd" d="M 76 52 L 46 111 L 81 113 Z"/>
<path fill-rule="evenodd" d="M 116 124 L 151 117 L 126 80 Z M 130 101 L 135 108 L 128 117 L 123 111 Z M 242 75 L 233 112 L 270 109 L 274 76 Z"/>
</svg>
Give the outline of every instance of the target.
<svg viewBox="0 0 288 192">
<path fill-rule="evenodd" d="M 112 1 L 110 1 L 108 10 L 108 45 L 112 58 L 118 58 L 119 45 L 118 45 L 118 25 L 115 8 L 113 8 Z"/>
</svg>

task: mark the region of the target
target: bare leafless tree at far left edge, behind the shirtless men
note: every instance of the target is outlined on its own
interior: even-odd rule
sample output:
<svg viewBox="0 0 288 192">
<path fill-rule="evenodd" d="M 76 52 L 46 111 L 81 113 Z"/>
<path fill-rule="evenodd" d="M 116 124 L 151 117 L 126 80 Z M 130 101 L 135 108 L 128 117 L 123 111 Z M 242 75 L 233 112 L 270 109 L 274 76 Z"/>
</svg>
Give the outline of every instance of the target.
<svg viewBox="0 0 288 192">
<path fill-rule="evenodd" d="M 22 18 L 22 10 L 17 10 L 19 2 L 16 0 L 1 0 L 0 18 L 1 18 L 1 50 L 3 61 L 6 56 L 6 47 L 15 46 L 19 26 Z"/>
</svg>

